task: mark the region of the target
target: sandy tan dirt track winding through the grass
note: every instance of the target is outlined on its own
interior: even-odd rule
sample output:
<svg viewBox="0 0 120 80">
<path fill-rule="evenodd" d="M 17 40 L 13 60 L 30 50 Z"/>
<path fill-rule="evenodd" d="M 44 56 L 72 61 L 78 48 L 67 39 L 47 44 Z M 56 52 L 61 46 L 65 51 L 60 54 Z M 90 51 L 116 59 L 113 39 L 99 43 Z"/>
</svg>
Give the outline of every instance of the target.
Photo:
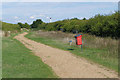
<svg viewBox="0 0 120 80">
<path fill-rule="evenodd" d="M 117 74 L 114 71 L 91 64 L 83 58 L 77 58 L 68 51 L 52 48 L 27 39 L 24 37 L 26 34 L 25 32 L 14 38 L 31 49 L 61 78 L 117 78 Z"/>
</svg>

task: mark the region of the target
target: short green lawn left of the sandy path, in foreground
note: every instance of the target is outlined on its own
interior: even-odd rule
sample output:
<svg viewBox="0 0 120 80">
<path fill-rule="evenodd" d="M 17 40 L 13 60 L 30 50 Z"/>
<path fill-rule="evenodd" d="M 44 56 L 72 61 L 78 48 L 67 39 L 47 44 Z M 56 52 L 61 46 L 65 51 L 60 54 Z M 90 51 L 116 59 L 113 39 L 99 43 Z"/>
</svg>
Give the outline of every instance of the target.
<svg viewBox="0 0 120 80">
<path fill-rule="evenodd" d="M 3 78 L 57 78 L 48 65 L 13 36 L 2 39 Z"/>
</svg>

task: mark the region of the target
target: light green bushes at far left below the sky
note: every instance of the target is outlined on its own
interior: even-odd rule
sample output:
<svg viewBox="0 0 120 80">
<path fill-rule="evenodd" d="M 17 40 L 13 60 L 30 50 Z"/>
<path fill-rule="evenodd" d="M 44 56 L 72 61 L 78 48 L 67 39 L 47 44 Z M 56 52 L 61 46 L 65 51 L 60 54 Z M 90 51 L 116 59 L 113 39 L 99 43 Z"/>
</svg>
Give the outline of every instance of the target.
<svg viewBox="0 0 120 80">
<path fill-rule="evenodd" d="M 10 24 L 2 22 L 2 30 L 3 31 L 20 31 L 20 27 L 18 24 Z"/>
</svg>

